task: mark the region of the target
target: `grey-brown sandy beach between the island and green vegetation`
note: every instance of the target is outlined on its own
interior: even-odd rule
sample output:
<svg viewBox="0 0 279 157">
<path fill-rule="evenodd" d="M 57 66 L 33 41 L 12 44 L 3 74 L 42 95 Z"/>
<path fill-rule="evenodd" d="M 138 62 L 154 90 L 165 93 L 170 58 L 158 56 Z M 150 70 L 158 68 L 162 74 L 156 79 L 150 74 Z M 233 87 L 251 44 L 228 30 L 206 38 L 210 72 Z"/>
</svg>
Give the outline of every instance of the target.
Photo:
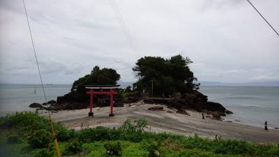
<svg viewBox="0 0 279 157">
<path fill-rule="evenodd" d="M 163 111 L 151 111 L 149 107 L 163 106 Z M 63 110 L 52 113 L 52 119 L 61 122 L 68 128 L 80 129 L 84 127 L 119 127 L 126 119 L 144 118 L 149 122 L 146 130 L 155 132 L 178 133 L 183 135 L 198 134 L 202 137 L 214 138 L 216 135 L 224 138 L 249 140 L 252 142 L 266 143 L 279 142 L 279 130 L 269 129 L 244 124 L 236 124 L 232 121 L 220 121 L 206 117 L 198 112 L 187 110 L 188 114 L 178 114 L 176 110 L 169 109 L 165 105 L 151 105 L 135 103 L 114 107 L 114 117 L 109 117 L 110 107 L 93 108 L 94 117 L 88 117 L 89 109 Z"/>
</svg>

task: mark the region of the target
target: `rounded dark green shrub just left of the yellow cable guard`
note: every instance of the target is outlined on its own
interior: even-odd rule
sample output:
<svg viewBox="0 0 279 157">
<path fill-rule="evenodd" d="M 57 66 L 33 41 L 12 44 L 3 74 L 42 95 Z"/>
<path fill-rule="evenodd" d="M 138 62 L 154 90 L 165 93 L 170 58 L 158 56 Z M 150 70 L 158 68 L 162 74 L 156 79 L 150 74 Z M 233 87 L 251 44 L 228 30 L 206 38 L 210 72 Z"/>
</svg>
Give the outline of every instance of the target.
<svg viewBox="0 0 279 157">
<path fill-rule="evenodd" d="M 27 137 L 27 142 L 33 148 L 45 148 L 52 141 L 52 135 L 45 129 L 33 130 L 33 134 Z"/>
</svg>

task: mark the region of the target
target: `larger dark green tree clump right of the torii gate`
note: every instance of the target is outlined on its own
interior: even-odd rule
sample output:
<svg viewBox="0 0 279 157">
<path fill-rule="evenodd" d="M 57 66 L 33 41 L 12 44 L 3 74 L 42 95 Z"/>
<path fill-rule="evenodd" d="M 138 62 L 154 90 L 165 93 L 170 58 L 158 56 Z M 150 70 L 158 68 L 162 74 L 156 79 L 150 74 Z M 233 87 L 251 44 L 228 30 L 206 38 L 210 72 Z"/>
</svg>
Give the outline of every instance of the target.
<svg viewBox="0 0 279 157">
<path fill-rule="evenodd" d="M 151 91 L 153 83 L 153 96 L 165 96 L 174 92 L 189 93 L 199 89 L 195 84 L 197 78 L 188 65 L 193 63 L 188 57 L 180 54 L 170 59 L 163 57 L 142 57 L 137 60 L 133 68 L 139 80 L 135 83 L 137 91 Z"/>
</svg>

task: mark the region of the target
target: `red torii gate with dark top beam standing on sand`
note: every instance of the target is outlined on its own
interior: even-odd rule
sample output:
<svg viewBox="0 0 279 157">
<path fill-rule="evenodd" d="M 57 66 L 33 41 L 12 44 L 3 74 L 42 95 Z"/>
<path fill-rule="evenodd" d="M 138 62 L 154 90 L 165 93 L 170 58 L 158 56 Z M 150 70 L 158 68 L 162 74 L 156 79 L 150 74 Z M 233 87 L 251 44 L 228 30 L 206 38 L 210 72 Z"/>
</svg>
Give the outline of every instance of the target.
<svg viewBox="0 0 279 157">
<path fill-rule="evenodd" d="M 109 94 L 110 95 L 110 114 L 109 116 L 114 116 L 113 114 L 113 95 L 117 94 L 113 89 L 117 89 L 120 85 L 88 85 L 85 88 L 90 89 L 90 91 L 86 91 L 86 94 L 90 94 L 90 112 L 88 113 L 89 117 L 93 117 L 93 94 Z M 100 91 L 93 91 L 93 89 L 100 89 Z M 103 91 L 103 89 L 110 89 L 110 91 Z"/>
</svg>

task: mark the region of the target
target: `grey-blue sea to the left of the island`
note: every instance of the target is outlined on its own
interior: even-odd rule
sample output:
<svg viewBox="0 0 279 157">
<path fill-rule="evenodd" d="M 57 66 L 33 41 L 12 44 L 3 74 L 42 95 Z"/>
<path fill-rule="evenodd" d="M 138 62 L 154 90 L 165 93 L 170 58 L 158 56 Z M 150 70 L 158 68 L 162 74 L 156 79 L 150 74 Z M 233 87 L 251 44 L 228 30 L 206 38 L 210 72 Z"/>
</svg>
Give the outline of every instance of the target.
<svg viewBox="0 0 279 157">
<path fill-rule="evenodd" d="M 48 100 L 56 100 L 70 92 L 71 85 L 45 85 Z M 45 103 L 43 88 L 40 84 L 1 84 L 0 85 L 0 116 L 20 111 L 35 111 L 29 107 L 31 103 Z"/>
</svg>

